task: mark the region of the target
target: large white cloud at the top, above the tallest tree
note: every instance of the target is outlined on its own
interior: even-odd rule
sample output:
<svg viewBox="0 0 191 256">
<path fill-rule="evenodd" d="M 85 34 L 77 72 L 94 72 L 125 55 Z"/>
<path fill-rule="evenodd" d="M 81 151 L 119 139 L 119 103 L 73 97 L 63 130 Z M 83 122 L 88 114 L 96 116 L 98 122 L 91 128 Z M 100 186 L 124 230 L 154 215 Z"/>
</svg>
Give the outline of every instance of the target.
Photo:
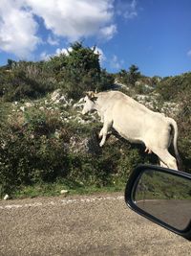
<svg viewBox="0 0 191 256">
<path fill-rule="evenodd" d="M 77 40 L 99 34 L 113 18 L 112 0 L 25 0 L 54 35 Z"/>
</svg>

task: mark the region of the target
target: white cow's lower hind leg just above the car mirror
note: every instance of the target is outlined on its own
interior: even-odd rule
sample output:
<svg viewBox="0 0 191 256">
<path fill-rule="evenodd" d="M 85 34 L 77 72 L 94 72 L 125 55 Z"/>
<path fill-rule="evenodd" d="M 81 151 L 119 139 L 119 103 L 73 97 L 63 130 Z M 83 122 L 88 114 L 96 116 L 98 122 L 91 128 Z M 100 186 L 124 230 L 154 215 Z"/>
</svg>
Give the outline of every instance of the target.
<svg viewBox="0 0 191 256">
<path fill-rule="evenodd" d="M 175 159 L 174 156 L 172 156 L 169 153 L 169 151 L 159 149 L 159 150 L 154 151 L 154 152 L 159 156 L 161 166 L 167 166 L 170 169 L 178 170 L 177 160 Z M 163 164 L 161 164 L 161 162 Z"/>
</svg>

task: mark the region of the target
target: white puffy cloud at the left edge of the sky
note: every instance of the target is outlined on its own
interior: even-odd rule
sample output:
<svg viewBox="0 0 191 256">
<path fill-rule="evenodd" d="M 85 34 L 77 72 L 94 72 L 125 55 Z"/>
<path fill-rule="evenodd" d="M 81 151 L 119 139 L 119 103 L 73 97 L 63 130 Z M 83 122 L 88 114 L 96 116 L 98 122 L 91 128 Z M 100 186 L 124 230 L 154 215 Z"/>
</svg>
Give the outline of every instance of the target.
<svg viewBox="0 0 191 256">
<path fill-rule="evenodd" d="M 38 25 L 29 10 L 21 9 L 20 1 L 0 2 L 0 49 L 26 58 L 41 41 Z"/>
</svg>

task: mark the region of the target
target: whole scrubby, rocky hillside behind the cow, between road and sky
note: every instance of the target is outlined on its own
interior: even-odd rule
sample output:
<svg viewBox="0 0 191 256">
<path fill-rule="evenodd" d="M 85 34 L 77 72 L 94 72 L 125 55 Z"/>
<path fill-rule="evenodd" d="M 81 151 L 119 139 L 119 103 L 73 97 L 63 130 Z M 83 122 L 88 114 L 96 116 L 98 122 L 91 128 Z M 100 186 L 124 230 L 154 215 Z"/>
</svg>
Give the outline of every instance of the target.
<svg viewBox="0 0 191 256">
<path fill-rule="evenodd" d="M 123 188 L 138 163 L 158 163 L 156 155 L 117 134 L 98 147 L 99 118 L 81 116 L 78 102 L 89 90 L 121 90 L 175 118 L 184 171 L 191 173 L 191 73 L 148 78 L 132 65 L 109 74 L 100 68 L 95 49 L 79 42 L 71 49 L 47 61 L 9 59 L 0 68 L 1 197 L 36 186 L 39 194 L 56 186 Z"/>
</svg>

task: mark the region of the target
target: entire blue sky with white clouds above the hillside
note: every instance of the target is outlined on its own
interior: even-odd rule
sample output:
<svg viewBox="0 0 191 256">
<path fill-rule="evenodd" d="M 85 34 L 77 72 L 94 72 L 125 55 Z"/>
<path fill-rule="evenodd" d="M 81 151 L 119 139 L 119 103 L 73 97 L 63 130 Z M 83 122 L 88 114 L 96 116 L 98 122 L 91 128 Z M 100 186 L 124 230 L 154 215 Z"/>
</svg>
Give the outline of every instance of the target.
<svg viewBox="0 0 191 256">
<path fill-rule="evenodd" d="M 191 71 L 190 0 L 0 0 L 0 65 L 96 45 L 109 72 L 138 65 L 146 76 Z"/>
</svg>

